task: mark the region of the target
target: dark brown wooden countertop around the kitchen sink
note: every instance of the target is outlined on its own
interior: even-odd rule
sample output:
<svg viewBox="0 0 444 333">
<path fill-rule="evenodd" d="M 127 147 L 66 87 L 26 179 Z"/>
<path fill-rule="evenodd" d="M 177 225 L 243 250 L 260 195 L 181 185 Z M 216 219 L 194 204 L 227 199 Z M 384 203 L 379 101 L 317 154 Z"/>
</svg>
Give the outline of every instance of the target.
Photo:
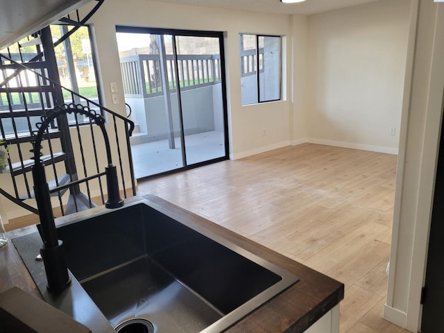
<svg viewBox="0 0 444 333">
<path fill-rule="evenodd" d="M 250 241 L 239 234 L 223 228 L 221 225 L 212 223 L 177 205 L 173 205 L 162 198 L 148 194 L 128 198 L 126 203 L 132 203 L 141 198 L 150 201 L 157 207 L 169 210 L 172 214 L 178 214 L 178 216 L 187 215 L 189 226 L 197 229 L 204 228 L 221 237 L 225 237 L 233 244 L 245 248 L 259 257 L 263 257 L 269 262 L 298 275 L 300 278 L 299 282 L 266 302 L 241 319 L 241 321 L 228 328 L 228 330 L 225 330 L 225 332 L 304 332 L 343 299 L 344 286 L 341 282 L 333 280 L 298 262 L 294 262 L 284 255 L 275 253 L 273 250 Z M 63 216 L 56 219 L 56 224 L 67 223 L 78 218 L 79 214 L 91 214 L 90 211 L 92 210 Z M 8 237 L 13 239 L 35 232 L 35 230 L 35 226 L 14 230 L 8 232 Z M 0 248 L 0 292 L 6 291 L 11 287 L 19 287 L 42 299 L 17 250 L 9 242 L 8 246 Z"/>
</svg>

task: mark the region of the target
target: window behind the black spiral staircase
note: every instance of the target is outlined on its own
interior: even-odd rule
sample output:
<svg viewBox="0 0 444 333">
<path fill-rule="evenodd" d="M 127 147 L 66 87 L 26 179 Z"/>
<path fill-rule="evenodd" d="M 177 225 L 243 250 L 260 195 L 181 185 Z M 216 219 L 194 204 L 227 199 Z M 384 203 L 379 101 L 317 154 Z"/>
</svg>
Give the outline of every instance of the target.
<svg viewBox="0 0 444 333">
<path fill-rule="evenodd" d="M 65 35 L 71 31 L 74 26 L 60 26 L 51 25 L 51 35 L 53 41 L 56 42 L 61 35 Z M 28 36 L 20 40 L 17 44 L 12 44 L 6 49 L 1 49 L 0 53 L 6 58 L 10 58 L 16 62 L 24 63 L 34 62 L 40 59 L 40 52 L 42 45 L 40 38 L 35 38 L 37 35 Z M 65 42 L 62 42 L 54 49 L 56 53 L 56 62 L 60 83 L 63 87 L 67 87 L 72 91 L 85 96 L 89 101 L 100 103 L 99 89 L 96 83 L 96 74 L 94 70 L 94 62 L 92 59 L 92 48 L 90 41 L 89 28 L 81 26 L 75 31 Z M 0 62 L 3 65 L 9 65 L 9 61 L 2 58 Z M 38 61 L 38 60 L 37 60 Z M 37 74 L 48 76 L 48 71 L 44 68 L 45 65 L 32 66 L 31 70 L 20 71 L 18 76 L 14 76 L 7 82 L 7 87 L 15 89 L 12 92 L 0 92 L 0 112 L 3 114 L 0 121 L 1 133 L 3 135 L 13 135 L 14 133 L 30 133 L 37 130 L 36 123 L 41 122 L 40 115 L 35 115 L 35 110 L 42 108 L 53 108 L 53 101 L 49 94 L 38 92 L 35 87 L 40 85 L 47 85 L 45 80 L 40 79 Z M 8 76 L 15 72 L 15 66 L 5 66 L 0 70 L 0 83 L 3 83 Z M 34 73 L 37 72 L 37 74 Z M 4 87 L 4 86 L 3 86 Z M 17 92 L 17 87 L 28 87 L 23 92 Z M 67 89 L 62 89 L 64 102 L 87 105 L 89 108 L 101 112 L 100 108 L 93 103 L 89 103 L 84 98 L 71 94 Z M 10 111 L 11 110 L 11 111 Z M 26 112 L 24 112 L 26 110 Z M 33 114 L 28 114 L 28 110 L 33 110 Z M 12 118 L 10 114 L 6 117 L 6 112 L 23 111 L 23 116 L 15 116 Z M 76 126 L 77 124 L 89 123 L 89 118 L 83 114 L 67 114 L 69 125 Z"/>
</svg>

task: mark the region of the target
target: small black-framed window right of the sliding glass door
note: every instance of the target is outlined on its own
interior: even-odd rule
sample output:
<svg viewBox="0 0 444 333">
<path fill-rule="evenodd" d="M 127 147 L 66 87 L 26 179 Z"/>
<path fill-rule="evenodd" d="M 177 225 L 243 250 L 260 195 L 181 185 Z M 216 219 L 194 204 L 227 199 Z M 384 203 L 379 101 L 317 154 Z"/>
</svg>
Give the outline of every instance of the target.
<svg viewBox="0 0 444 333">
<path fill-rule="evenodd" d="M 280 37 L 240 34 L 239 43 L 242 105 L 279 101 Z"/>
</svg>

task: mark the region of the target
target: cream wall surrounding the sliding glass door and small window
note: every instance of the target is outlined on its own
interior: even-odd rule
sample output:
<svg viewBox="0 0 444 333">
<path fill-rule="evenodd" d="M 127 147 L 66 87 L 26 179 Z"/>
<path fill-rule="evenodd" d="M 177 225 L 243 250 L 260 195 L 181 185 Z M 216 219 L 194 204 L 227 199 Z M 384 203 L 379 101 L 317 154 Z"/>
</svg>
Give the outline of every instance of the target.
<svg viewBox="0 0 444 333">
<path fill-rule="evenodd" d="M 130 10 L 128 10 L 130 8 Z M 298 21 L 298 18 L 293 19 Z M 179 6 L 144 0 L 107 0 L 92 17 L 99 51 L 99 66 L 107 105 L 111 105 L 110 82 L 118 83 L 119 100 L 123 86 L 115 37 L 116 25 L 180 28 L 225 33 L 225 62 L 228 77 L 228 119 L 230 157 L 239 158 L 271 148 L 287 146 L 291 141 L 291 108 L 287 94 L 284 101 L 241 106 L 239 33 L 289 35 L 291 17 L 258 12 L 239 12 L 197 6 Z M 283 68 L 287 69 L 291 49 L 284 38 Z M 289 85 L 289 76 L 284 83 Z M 287 90 L 286 90 L 287 92 Z M 266 136 L 263 129 L 266 128 Z"/>
</svg>

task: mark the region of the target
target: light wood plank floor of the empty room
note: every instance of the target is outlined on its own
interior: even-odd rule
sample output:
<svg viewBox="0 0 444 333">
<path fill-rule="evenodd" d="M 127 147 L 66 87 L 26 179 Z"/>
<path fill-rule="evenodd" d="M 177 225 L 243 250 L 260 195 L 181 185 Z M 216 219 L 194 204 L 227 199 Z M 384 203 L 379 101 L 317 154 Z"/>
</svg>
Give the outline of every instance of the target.
<svg viewBox="0 0 444 333">
<path fill-rule="evenodd" d="M 406 333 L 382 318 L 395 155 L 301 144 L 139 184 L 345 284 L 341 333 Z"/>
</svg>

